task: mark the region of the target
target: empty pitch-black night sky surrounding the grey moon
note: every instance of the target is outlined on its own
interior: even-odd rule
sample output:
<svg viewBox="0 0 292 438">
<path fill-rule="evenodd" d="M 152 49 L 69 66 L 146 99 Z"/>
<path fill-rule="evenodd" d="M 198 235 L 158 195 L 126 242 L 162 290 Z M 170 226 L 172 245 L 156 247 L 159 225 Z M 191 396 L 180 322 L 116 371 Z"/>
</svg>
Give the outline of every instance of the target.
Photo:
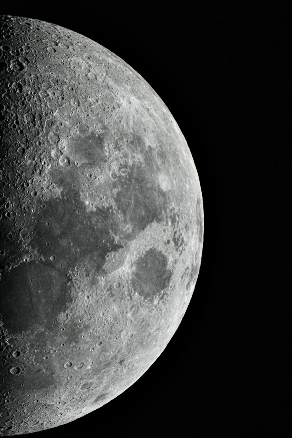
<svg viewBox="0 0 292 438">
<path fill-rule="evenodd" d="M 288 226 L 281 201 L 288 122 L 280 62 L 288 31 L 280 35 L 278 4 L 9 3 L 1 14 L 81 33 L 148 81 L 186 138 L 204 202 L 196 288 L 161 356 L 99 410 L 33 437 L 238 437 L 266 427 L 286 436 L 288 346 L 279 325 L 287 289 L 280 241 Z"/>
</svg>

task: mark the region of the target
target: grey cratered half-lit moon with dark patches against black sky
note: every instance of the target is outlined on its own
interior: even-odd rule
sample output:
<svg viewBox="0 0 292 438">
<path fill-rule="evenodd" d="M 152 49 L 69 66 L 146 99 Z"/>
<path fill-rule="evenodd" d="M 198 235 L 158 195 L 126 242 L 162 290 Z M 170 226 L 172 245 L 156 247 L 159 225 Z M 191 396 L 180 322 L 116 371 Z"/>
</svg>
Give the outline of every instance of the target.
<svg viewBox="0 0 292 438">
<path fill-rule="evenodd" d="M 0 17 L 1 434 L 125 391 L 176 331 L 203 204 L 168 108 L 98 43 Z"/>
</svg>

